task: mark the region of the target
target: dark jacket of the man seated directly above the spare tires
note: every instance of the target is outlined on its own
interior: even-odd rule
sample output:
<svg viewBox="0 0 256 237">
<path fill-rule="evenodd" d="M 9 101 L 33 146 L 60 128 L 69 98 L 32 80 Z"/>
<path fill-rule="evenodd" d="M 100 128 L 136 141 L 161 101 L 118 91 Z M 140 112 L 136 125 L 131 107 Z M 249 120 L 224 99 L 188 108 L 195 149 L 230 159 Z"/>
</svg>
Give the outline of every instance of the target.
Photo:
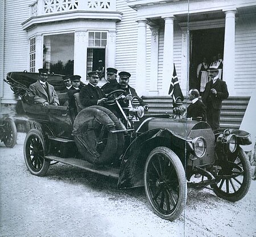
<svg viewBox="0 0 256 237">
<path fill-rule="evenodd" d="M 105 98 L 106 95 L 100 87 L 94 88 L 91 84 L 88 84 L 80 90 L 80 103 L 85 107 L 91 105 L 97 105 L 98 100 Z"/>
</svg>

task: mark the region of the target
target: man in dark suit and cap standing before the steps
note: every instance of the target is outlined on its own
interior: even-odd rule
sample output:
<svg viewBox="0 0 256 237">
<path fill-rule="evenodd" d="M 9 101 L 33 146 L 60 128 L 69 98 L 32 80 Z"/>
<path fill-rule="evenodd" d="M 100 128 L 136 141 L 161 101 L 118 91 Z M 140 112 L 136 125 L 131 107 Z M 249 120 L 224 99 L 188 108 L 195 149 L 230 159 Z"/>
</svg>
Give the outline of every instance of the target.
<svg viewBox="0 0 256 237">
<path fill-rule="evenodd" d="M 209 67 L 210 81 L 206 84 L 202 96 L 207 107 L 207 122 L 212 130 L 220 129 L 220 112 L 222 100 L 228 99 L 229 92 L 226 82 L 218 78 L 218 67 Z"/>
</svg>

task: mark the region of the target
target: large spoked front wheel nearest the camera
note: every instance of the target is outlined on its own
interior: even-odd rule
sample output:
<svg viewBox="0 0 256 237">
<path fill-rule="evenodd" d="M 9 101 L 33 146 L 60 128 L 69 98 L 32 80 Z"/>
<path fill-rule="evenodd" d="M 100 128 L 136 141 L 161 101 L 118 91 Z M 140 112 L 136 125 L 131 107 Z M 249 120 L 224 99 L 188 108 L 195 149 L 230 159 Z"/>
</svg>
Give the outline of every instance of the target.
<svg viewBox="0 0 256 237">
<path fill-rule="evenodd" d="M 187 199 L 185 171 L 179 157 L 167 147 L 156 147 L 144 167 L 146 196 L 154 212 L 169 221 L 177 219 Z"/>
</svg>

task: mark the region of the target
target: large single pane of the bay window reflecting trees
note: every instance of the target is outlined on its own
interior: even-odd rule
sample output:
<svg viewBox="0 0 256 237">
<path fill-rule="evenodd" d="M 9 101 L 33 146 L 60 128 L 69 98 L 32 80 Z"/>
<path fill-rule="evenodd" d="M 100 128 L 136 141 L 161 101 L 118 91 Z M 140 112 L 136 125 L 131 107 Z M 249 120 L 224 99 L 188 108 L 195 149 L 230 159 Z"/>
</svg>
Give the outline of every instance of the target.
<svg viewBox="0 0 256 237">
<path fill-rule="evenodd" d="M 44 36 L 43 67 L 55 74 L 73 75 L 74 33 Z"/>
</svg>

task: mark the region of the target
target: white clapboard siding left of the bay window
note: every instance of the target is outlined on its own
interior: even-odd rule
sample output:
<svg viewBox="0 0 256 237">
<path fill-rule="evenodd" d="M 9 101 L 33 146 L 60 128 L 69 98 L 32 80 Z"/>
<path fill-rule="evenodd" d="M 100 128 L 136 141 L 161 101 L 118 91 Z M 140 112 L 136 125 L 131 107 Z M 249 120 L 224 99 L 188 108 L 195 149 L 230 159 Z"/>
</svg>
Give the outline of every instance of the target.
<svg viewBox="0 0 256 237">
<path fill-rule="evenodd" d="M 27 70 L 28 66 L 28 39 L 27 32 L 22 30 L 21 23 L 30 17 L 30 5 L 34 0 L 5 1 L 5 45 L 4 45 L 4 71 Z M 10 86 L 4 83 L 3 100 L 13 99 Z"/>
</svg>

